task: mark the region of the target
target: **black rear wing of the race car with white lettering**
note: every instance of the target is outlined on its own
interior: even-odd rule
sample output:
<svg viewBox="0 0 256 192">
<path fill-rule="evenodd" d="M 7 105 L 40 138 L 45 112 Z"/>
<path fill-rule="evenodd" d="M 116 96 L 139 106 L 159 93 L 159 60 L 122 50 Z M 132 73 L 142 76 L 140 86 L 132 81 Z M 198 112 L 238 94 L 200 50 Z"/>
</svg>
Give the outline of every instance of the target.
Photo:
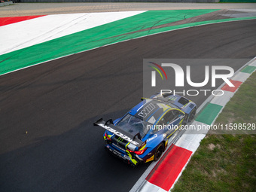
<svg viewBox="0 0 256 192">
<path fill-rule="evenodd" d="M 93 123 L 94 126 L 101 126 L 105 130 L 108 130 L 111 133 L 114 133 L 114 135 L 119 136 L 120 138 L 126 140 L 126 142 L 130 142 L 133 145 L 136 145 L 136 147 L 141 147 L 144 142 L 140 140 L 140 135 L 139 133 L 136 134 L 136 136 L 133 136 L 130 133 L 127 133 L 126 131 L 120 129 L 118 126 L 114 126 L 113 120 L 107 120 L 104 121 L 102 118 L 97 120 L 95 123 Z"/>
</svg>

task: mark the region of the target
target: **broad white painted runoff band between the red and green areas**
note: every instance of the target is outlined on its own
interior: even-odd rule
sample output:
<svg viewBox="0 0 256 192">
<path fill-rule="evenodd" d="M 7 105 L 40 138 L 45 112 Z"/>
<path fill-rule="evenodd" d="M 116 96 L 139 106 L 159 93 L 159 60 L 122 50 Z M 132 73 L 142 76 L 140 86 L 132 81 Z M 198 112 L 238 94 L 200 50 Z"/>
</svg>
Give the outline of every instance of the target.
<svg viewBox="0 0 256 192">
<path fill-rule="evenodd" d="M 56 14 L 1 26 L 0 34 L 7 35 L 1 39 L 0 54 L 81 32 L 143 12 L 145 11 Z"/>
</svg>

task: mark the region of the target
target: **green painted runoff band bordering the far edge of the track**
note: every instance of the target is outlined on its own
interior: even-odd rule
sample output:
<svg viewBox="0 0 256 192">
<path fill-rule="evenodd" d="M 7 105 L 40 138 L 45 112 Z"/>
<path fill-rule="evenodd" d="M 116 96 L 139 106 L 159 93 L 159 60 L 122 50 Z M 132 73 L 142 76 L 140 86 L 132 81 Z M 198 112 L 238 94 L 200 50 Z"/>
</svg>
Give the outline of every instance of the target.
<svg viewBox="0 0 256 192">
<path fill-rule="evenodd" d="M 56 38 L 41 44 L 35 44 L 11 53 L 0 56 L 0 75 L 17 69 L 23 69 L 51 59 L 80 53 L 96 47 L 114 44 L 120 41 L 153 35 L 159 32 L 182 29 L 190 26 L 200 26 L 209 23 L 218 23 L 231 20 L 248 20 L 256 17 L 231 18 L 224 20 L 209 20 L 197 23 L 186 23 L 178 26 L 166 26 L 151 29 L 166 23 L 173 23 L 186 18 L 208 14 L 214 10 L 172 10 L 172 11 L 146 11 L 133 17 L 127 17 L 102 26 L 96 26 L 61 38 Z M 147 29 L 141 31 L 142 29 Z"/>
</svg>

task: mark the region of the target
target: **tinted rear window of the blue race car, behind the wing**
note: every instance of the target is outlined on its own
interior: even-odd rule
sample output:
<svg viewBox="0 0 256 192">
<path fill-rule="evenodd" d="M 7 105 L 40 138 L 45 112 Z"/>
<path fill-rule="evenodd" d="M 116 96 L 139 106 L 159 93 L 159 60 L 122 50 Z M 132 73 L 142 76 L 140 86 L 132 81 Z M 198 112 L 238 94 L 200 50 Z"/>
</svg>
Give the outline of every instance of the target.
<svg viewBox="0 0 256 192">
<path fill-rule="evenodd" d="M 148 133 L 148 128 L 151 127 L 149 123 L 130 114 L 126 114 L 126 116 L 117 123 L 117 126 L 133 136 L 139 133 L 142 138 Z"/>
</svg>

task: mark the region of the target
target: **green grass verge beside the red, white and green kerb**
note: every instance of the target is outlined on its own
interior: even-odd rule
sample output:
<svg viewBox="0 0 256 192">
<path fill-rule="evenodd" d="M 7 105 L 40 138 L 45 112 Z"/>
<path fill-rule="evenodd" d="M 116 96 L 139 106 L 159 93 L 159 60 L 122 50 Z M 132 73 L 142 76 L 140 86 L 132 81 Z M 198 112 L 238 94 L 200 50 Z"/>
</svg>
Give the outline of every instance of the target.
<svg viewBox="0 0 256 192">
<path fill-rule="evenodd" d="M 215 123 L 256 123 L 256 73 Z M 255 135 L 207 135 L 172 191 L 255 191 Z"/>
</svg>

